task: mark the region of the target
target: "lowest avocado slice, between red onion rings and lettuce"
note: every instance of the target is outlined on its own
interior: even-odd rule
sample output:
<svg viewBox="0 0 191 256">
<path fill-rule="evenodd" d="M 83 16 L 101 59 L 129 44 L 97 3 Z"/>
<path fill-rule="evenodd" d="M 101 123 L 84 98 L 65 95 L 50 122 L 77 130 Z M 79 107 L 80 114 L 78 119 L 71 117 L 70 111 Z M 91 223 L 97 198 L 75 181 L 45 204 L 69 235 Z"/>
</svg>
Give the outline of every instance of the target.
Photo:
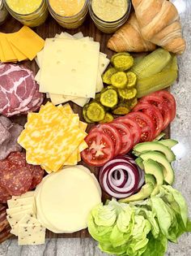
<svg viewBox="0 0 191 256">
<path fill-rule="evenodd" d="M 154 189 L 153 184 L 146 183 L 142 186 L 142 189 L 138 193 L 135 193 L 130 197 L 120 199 L 119 202 L 134 202 L 134 201 L 146 199 L 147 197 L 150 197 L 153 189 Z"/>
</svg>

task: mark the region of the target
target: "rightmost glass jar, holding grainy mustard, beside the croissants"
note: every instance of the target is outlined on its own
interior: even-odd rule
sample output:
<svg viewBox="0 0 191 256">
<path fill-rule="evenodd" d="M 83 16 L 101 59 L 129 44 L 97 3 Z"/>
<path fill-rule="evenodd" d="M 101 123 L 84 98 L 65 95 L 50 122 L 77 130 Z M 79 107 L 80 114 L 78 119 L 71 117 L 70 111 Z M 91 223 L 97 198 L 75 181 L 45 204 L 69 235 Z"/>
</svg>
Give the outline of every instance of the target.
<svg viewBox="0 0 191 256">
<path fill-rule="evenodd" d="M 117 7 L 117 3 L 124 6 Z M 112 6 L 113 4 L 113 6 Z M 109 5 L 109 6 L 107 6 Z M 108 8 L 109 7 L 109 8 Z M 131 1 L 124 0 L 89 0 L 89 12 L 96 27 L 104 33 L 114 33 L 129 18 Z"/>
</svg>

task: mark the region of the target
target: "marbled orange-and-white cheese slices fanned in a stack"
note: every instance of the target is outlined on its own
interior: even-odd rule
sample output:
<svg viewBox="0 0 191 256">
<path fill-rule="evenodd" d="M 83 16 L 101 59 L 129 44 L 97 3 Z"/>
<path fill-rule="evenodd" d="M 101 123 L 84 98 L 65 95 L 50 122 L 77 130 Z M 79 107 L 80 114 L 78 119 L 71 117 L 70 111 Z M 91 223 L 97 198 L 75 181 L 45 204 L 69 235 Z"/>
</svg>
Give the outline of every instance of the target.
<svg viewBox="0 0 191 256">
<path fill-rule="evenodd" d="M 53 106 L 47 102 L 39 113 L 29 113 L 18 142 L 26 150 L 28 163 L 41 165 L 47 172 L 64 165 L 75 165 L 87 148 L 87 124 L 79 121 L 69 104 Z"/>
</svg>

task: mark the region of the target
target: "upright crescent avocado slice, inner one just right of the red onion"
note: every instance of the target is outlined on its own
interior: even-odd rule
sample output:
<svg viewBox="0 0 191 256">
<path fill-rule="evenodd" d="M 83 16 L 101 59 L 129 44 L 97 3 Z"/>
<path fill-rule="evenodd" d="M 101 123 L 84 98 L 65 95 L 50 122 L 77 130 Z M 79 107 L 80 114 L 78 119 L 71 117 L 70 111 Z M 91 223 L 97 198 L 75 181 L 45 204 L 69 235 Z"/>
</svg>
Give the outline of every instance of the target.
<svg viewBox="0 0 191 256">
<path fill-rule="evenodd" d="M 156 184 L 151 195 L 156 195 L 159 193 L 159 186 L 163 184 L 163 168 L 159 163 L 153 161 L 152 159 L 143 161 L 143 165 L 146 175 L 150 174 L 155 176 Z"/>
</svg>

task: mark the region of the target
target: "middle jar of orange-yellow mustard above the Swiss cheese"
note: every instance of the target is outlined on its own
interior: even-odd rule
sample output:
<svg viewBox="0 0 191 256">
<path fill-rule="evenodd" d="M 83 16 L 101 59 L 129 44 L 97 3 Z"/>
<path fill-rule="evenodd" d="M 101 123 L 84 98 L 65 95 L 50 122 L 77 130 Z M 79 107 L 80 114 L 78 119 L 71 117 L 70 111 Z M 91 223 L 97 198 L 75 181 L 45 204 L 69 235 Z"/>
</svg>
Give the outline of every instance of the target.
<svg viewBox="0 0 191 256">
<path fill-rule="evenodd" d="M 86 19 L 88 0 L 47 0 L 50 14 L 64 28 L 79 28 Z"/>
</svg>

